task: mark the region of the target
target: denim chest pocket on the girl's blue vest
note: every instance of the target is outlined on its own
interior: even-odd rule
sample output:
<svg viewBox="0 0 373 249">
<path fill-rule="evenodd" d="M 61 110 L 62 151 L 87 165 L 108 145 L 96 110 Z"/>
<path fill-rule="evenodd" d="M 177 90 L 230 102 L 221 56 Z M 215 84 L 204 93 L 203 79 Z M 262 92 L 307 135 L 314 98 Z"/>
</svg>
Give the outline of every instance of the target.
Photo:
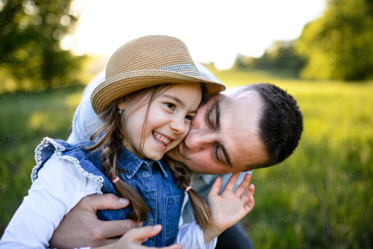
<svg viewBox="0 0 373 249">
<path fill-rule="evenodd" d="M 181 215 L 181 206 L 184 194 L 166 197 L 166 219 L 164 224 L 164 239 L 167 239 L 178 230 Z"/>
</svg>

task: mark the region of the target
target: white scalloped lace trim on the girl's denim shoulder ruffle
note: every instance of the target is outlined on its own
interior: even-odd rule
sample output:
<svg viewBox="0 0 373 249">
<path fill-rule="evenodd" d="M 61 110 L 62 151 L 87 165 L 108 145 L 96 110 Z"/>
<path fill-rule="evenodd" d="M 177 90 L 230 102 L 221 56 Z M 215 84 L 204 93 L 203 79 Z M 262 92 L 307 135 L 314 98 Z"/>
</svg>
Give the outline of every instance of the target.
<svg viewBox="0 0 373 249">
<path fill-rule="evenodd" d="M 95 182 L 97 182 L 98 194 L 103 194 L 101 191 L 101 188 L 103 186 L 104 178 L 100 175 L 99 176 L 93 175 L 92 173 L 88 173 L 87 171 L 85 171 L 84 168 L 82 168 L 82 166 L 79 164 L 79 160 L 76 157 L 67 156 L 67 155 L 62 156 L 61 151 L 65 151 L 66 148 L 48 137 L 45 137 L 43 141 L 41 141 L 41 144 L 39 144 L 38 147 L 36 147 L 35 149 L 36 166 L 34 167 L 34 169 L 32 169 L 32 173 L 31 173 L 32 182 L 34 182 L 34 180 L 37 178 L 36 171 L 37 169 L 40 168 L 41 163 L 42 163 L 41 156 L 40 156 L 41 151 L 43 150 L 43 148 L 48 147 L 50 144 L 52 144 L 55 148 L 54 152 L 57 155 L 56 156 L 57 160 L 66 159 L 69 162 L 72 162 L 75 165 L 75 167 L 78 168 L 78 170 L 82 173 L 82 175 L 84 175 L 87 178 L 93 179 Z"/>
</svg>

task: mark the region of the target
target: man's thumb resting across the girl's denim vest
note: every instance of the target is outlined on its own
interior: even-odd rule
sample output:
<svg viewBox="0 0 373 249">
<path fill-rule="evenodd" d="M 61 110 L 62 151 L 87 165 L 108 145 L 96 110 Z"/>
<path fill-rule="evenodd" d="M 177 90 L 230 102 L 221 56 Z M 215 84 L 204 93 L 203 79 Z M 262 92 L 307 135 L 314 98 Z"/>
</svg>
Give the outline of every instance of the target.
<svg viewBox="0 0 373 249">
<path fill-rule="evenodd" d="M 96 212 L 97 209 L 120 209 L 128 206 L 129 201 L 115 194 L 91 194 L 84 197 L 78 204 L 79 207 Z"/>
</svg>

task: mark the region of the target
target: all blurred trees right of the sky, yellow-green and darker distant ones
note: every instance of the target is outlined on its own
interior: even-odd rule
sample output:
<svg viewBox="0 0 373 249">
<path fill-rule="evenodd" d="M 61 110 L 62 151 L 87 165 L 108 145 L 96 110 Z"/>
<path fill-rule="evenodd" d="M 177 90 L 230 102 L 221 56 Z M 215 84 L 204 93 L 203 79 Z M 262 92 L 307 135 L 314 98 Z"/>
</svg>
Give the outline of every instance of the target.
<svg viewBox="0 0 373 249">
<path fill-rule="evenodd" d="M 285 71 L 303 79 L 373 79 L 373 1 L 328 0 L 323 16 L 294 41 L 275 41 L 259 58 L 237 55 L 239 70 Z"/>
</svg>

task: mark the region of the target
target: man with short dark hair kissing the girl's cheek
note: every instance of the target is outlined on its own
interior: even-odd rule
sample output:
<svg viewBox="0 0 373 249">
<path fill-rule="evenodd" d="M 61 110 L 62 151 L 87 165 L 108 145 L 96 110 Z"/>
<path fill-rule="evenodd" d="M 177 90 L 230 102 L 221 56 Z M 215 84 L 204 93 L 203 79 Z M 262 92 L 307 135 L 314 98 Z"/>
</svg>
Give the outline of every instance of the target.
<svg viewBox="0 0 373 249">
<path fill-rule="evenodd" d="M 204 77 L 216 79 L 202 65 L 198 65 L 198 69 Z M 95 86 L 104 80 L 103 75 L 102 72 L 98 74 L 93 83 L 85 89 L 81 104 L 74 114 L 73 130 L 68 142 L 75 143 L 89 139 L 89 134 L 81 130 L 84 127 L 93 126 L 91 121 L 95 114 L 90 106 L 89 96 Z M 298 145 L 303 130 L 302 114 L 292 96 L 274 85 L 251 84 L 203 99 L 206 104 L 198 109 L 185 141 L 167 153 L 169 157 L 184 163 L 191 170 L 205 174 L 226 174 L 268 167 L 285 160 Z M 191 186 L 201 196 L 206 197 L 214 179 L 215 175 L 195 174 Z M 227 181 L 229 177 L 223 176 L 224 179 Z M 241 181 L 239 179 L 237 183 Z M 84 202 L 84 199 L 82 201 Z M 94 213 L 94 210 L 74 209 L 70 213 L 75 215 L 79 212 Z M 183 219 L 184 222 L 193 220 L 191 208 L 188 205 L 184 209 Z M 91 239 L 91 241 L 95 239 L 97 241 L 95 245 L 103 245 L 113 241 L 106 240 L 107 238 L 117 236 L 117 231 L 112 234 L 105 234 L 104 230 L 100 232 L 98 224 L 102 223 L 94 222 L 97 227 L 91 225 L 86 226 L 85 229 L 94 231 L 92 234 L 96 236 L 87 238 L 87 233 L 89 234 L 87 231 L 83 239 Z M 123 224 L 124 226 L 135 225 L 130 221 L 122 222 L 122 226 Z M 77 233 L 81 232 L 79 231 L 81 228 L 81 224 L 76 223 Z M 74 228 L 70 228 L 68 235 L 75 237 L 72 239 L 77 239 L 79 236 L 72 233 L 73 231 Z M 67 238 L 66 234 L 59 233 L 57 229 L 51 240 L 53 242 L 51 246 L 67 246 L 66 240 L 62 241 Z M 72 243 L 69 245 L 74 246 Z M 240 224 L 222 233 L 216 246 L 216 248 L 245 249 L 250 247 L 252 247 L 251 242 Z"/>
</svg>

